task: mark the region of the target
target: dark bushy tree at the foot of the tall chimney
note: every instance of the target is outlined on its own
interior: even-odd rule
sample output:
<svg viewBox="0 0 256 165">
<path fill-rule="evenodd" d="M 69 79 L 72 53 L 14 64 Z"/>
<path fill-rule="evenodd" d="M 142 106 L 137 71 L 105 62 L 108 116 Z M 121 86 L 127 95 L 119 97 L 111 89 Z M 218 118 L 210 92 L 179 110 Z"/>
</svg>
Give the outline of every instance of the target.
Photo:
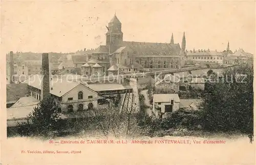
<svg viewBox="0 0 256 165">
<path fill-rule="evenodd" d="M 61 129 L 60 107 L 52 97 L 41 100 L 27 116 L 27 122 L 21 123 L 20 130 L 29 136 L 49 137 Z"/>
</svg>

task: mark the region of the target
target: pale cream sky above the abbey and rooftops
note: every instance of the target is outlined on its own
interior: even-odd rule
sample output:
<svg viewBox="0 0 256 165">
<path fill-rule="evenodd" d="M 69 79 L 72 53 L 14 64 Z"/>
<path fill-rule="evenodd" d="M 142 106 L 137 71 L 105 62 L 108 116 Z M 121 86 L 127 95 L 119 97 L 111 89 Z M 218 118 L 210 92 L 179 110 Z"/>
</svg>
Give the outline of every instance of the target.
<svg viewBox="0 0 256 165">
<path fill-rule="evenodd" d="M 75 52 L 105 45 L 116 13 L 123 40 L 186 49 L 255 51 L 253 1 L 2 1 L 1 53 Z"/>
</svg>

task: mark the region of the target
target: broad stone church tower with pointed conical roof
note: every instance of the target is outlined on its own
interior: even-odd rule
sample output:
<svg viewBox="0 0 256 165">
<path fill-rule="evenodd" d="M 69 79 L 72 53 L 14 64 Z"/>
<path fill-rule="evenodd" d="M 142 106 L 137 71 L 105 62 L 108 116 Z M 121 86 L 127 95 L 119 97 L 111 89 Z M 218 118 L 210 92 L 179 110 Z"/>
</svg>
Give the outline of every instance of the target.
<svg viewBox="0 0 256 165">
<path fill-rule="evenodd" d="M 118 45 L 123 42 L 122 24 L 116 14 L 111 19 L 106 33 L 106 46 L 110 48 L 110 53 L 113 53 Z"/>
</svg>

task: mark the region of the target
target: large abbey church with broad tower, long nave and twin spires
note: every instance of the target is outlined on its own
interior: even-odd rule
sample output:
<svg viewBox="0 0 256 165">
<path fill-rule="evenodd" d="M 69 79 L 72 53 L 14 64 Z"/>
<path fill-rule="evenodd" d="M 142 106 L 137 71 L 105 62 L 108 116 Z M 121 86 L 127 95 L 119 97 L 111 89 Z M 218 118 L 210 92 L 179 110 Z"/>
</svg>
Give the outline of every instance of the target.
<svg viewBox="0 0 256 165">
<path fill-rule="evenodd" d="M 141 68 L 180 68 L 184 66 L 186 38 L 183 33 L 182 45 L 170 43 L 126 42 L 123 40 L 122 24 L 116 15 L 108 24 L 105 46 L 87 50 L 87 63 L 81 66 L 82 74 L 124 72 Z"/>
</svg>

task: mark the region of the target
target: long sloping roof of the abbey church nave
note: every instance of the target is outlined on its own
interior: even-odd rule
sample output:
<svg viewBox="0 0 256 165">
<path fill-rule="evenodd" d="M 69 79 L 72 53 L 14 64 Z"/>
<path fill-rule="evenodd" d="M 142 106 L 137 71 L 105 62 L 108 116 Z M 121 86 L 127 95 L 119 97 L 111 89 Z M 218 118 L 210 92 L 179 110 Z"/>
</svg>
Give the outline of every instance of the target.
<svg viewBox="0 0 256 165">
<path fill-rule="evenodd" d="M 167 43 L 143 43 L 143 42 L 123 42 L 123 47 L 130 47 L 134 55 L 139 56 L 170 56 L 180 54 L 179 44 Z"/>
</svg>

